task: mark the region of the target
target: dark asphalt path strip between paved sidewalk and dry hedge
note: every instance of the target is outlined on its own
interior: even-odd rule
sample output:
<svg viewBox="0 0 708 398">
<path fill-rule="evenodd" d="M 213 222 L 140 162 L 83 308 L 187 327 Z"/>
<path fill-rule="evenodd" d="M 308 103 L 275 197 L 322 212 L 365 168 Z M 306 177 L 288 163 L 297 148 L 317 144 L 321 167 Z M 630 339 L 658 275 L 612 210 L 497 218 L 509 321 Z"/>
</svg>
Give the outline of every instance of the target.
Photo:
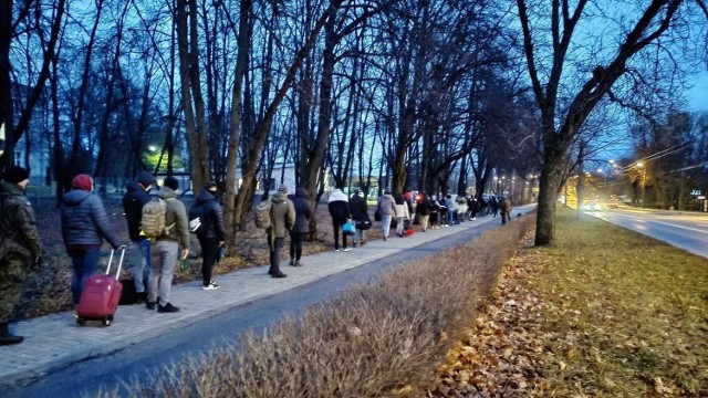
<svg viewBox="0 0 708 398">
<path fill-rule="evenodd" d="M 233 346 L 239 336 L 248 329 L 261 331 L 284 315 L 298 316 L 303 308 L 326 301 L 353 283 L 375 281 L 386 270 L 469 242 L 483 231 L 498 227 L 500 226 L 497 221 L 488 222 L 309 285 L 233 307 L 205 323 L 174 329 L 158 338 L 128 346 L 111 355 L 86 359 L 32 380 L 25 386 L 3 389 L 0 396 L 90 397 L 102 389 L 124 388 L 121 386 L 122 381 L 145 380 L 150 375 L 164 371 L 165 366 L 189 356 L 208 354 L 215 347 Z M 122 392 L 125 395 L 124 389 Z"/>
</svg>

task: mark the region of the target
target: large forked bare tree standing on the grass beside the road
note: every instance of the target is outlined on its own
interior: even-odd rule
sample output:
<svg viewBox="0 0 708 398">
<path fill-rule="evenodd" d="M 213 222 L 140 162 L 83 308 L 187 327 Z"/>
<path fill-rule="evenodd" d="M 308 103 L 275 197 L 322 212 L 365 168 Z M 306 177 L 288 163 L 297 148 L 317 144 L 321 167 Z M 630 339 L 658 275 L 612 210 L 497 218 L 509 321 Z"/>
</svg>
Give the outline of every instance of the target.
<svg viewBox="0 0 708 398">
<path fill-rule="evenodd" d="M 702 1 L 696 3 L 706 12 Z M 646 7 L 635 10 L 633 14 L 637 18 L 633 25 L 624 27 L 626 32 L 621 33 L 623 36 L 617 42 L 616 51 L 604 49 L 602 54 L 612 54 L 610 57 L 603 59 L 601 53 L 595 53 L 594 59 L 590 59 L 594 64 L 585 64 L 585 71 L 579 71 L 584 81 L 574 94 L 569 95 L 569 105 L 561 108 L 562 103 L 559 98 L 566 83 L 564 77 L 571 74 L 566 69 L 571 62 L 577 61 L 569 56 L 573 55 L 571 51 L 577 44 L 574 40 L 582 39 L 576 34 L 576 30 L 584 21 L 589 4 L 593 3 L 580 0 L 571 4 L 554 0 L 548 15 L 532 20 L 527 1 L 517 0 L 527 66 L 541 113 L 543 137 L 544 164 L 540 180 L 537 245 L 551 244 L 555 239 L 555 202 L 563 182 L 563 165 L 583 124 L 602 98 L 611 93 L 615 83 L 627 73 L 628 63 L 633 57 L 675 27 L 681 15 L 681 7 L 690 7 L 688 1 L 653 0 Z M 585 18 L 589 19 L 587 15 Z M 545 22 L 550 23 L 550 29 Z M 597 23 L 590 20 L 589 22 Z M 544 53 L 541 35 L 545 36 L 549 32 L 550 50 Z M 545 56 L 546 54 L 549 56 Z M 587 54 L 584 55 L 587 59 Z M 546 60 L 549 64 L 544 65 L 543 62 Z"/>
</svg>

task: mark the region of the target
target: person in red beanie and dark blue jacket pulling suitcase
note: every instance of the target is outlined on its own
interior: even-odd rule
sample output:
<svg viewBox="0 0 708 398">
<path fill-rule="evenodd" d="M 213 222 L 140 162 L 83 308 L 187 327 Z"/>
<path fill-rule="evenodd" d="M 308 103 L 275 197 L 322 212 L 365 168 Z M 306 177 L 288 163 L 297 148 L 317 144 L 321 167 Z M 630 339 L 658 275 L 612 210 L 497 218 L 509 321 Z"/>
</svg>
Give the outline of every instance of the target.
<svg viewBox="0 0 708 398">
<path fill-rule="evenodd" d="M 74 189 L 64 195 L 61 221 L 62 238 L 73 265 L 71 293 L 77 305 L 86 280 L 96 273 L 103 239 L 114 250 L 123 244 L 113 232 L 101 198 L 93 193 L 93 178 L 81 174 L 72 179 L 71 186 Z"/>
</svg>

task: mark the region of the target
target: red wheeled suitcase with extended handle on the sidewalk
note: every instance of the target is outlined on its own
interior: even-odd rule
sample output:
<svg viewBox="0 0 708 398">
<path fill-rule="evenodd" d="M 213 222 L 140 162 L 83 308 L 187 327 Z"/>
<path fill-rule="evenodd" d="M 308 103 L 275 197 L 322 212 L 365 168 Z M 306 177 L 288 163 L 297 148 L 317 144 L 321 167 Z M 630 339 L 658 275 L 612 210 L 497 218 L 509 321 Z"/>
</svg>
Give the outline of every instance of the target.
<svg viewBox="0 0 708 398">
<path fill-rule="evenodd" d="M 121 292 L 123 291 L 121 268 L 123 268 L 125 248 L 121 251 L 118 271 L 116 271 L 115 277 L 110 274 L 114 252 L 115 250 L 111 250 L 106 273 L 104 275 L 90 276 L 86 280 L 83 292 L 81 292 L 81 298 L 76 307 L 76 323 L 82 326 L 86 324 L 86 321 L 103 321 L 104 326 L 110 326 L 113 322 L 121 301 Z"/>
</svg>

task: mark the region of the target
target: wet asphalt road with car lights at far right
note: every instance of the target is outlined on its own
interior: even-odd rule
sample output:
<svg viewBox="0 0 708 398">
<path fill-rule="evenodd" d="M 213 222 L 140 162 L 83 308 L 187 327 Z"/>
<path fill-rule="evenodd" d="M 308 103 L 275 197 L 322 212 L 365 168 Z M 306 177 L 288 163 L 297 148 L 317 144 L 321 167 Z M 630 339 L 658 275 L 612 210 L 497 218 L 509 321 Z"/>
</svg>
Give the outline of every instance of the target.
<svg viewBox="0 0 708 398">
<path fill-rule="evenodd" d="M 708 213 L 627 207 L 586 213 L 708 258 Z"/>
</svg>

